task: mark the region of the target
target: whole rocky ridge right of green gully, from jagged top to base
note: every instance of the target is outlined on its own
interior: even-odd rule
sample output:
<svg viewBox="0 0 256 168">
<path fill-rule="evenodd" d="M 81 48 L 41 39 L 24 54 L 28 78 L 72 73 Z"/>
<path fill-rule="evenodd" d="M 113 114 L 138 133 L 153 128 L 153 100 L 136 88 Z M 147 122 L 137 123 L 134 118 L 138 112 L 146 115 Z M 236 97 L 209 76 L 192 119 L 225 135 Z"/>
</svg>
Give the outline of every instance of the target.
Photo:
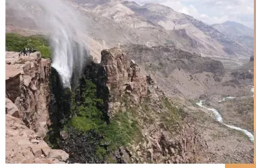
<svg viewBox="0 0 256 168">
<path fill-rule="evenodd" d="M 148 86 L 147 81 L 153 81 L 149 76 L 147 80 L 143 73 L 132 71 L 131 66 L 136 62 L 127 57 L 117 48 L 102 51 L 100 65 L 107 73 L 109 111 L 133 113 L 143 138 L 120 147 L 112 158 L 119 163 L 206 162 L 208 146 L 198 131 L 185 123 L 187 114 L 172 106 L 156 85 Z M 125 103 L 124 97 L 128 99 Z"/>
</svg>

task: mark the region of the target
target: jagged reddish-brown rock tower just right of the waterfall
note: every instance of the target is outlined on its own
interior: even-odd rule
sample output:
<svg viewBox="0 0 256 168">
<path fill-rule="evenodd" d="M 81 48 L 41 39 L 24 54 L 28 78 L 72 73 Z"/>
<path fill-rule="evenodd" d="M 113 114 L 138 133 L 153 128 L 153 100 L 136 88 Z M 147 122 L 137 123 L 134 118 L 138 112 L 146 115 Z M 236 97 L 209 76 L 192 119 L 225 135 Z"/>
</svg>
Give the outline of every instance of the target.
<svg viewBox="0 0 256 168">
<path fill-rule="evenodd" d="M 128 60 L 120 49 L 113 48 L 102 51 L 102 62 L 107 75 L 107 88 L 110 90 L 110 111 L 120 106 L 114 103 L 115 95 L 127 93 L 133 103 L 138 103 L 147 93 L 146 75 L 141 75 L 140 69 L 134 60 Z M 120 94 L 119 94 L 120 93 Z M 109 114 L 111 117 L 111 114 Z"/>
</svg>

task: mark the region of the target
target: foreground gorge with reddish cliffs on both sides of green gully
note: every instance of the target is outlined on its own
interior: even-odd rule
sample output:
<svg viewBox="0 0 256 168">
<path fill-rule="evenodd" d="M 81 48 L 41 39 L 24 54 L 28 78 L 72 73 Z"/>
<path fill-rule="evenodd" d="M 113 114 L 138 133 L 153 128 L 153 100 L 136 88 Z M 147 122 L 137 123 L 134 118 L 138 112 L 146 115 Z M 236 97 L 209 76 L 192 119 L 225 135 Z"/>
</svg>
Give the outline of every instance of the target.
<svg viewBox="0 0 256 168">
<path fill-rule="evenodd" d="M 73 85 L 63 88 L 39 52 L 6 52 L 6 162 L 207 162 L 208 145 L 187 113 L 122 50 L 88 60 Z"/>
</svg>

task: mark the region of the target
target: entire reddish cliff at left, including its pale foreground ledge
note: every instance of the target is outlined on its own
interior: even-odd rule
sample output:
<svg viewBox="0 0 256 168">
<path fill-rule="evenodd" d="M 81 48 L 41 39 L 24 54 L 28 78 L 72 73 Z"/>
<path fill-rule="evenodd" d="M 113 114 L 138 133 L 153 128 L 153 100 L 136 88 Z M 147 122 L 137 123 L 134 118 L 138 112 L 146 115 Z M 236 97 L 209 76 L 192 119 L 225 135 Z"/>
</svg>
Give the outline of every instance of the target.
<svg viewBox="0 0 256 168">
<path fill-rule="evenodd" d="M 50 60 L 39 52 L 6 52 L 6 163 L 65 163 L 69 154 L 50 149 Z"/>
</svg>

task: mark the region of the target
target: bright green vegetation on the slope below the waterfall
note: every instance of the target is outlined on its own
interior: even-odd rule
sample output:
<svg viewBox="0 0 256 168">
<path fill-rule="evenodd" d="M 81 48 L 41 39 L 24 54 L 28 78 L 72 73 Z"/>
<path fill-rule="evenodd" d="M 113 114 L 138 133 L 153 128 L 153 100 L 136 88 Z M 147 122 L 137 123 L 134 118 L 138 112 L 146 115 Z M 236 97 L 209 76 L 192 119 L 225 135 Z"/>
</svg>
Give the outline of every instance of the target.
<svg viewBox="0 0 256 168">
<path fill-rule="evenodd" d="M 125 101 L 125 98 L 123 98 Z M 83 76 L 80 80 L 79 88 L 72 95 L 71 111 L 74 114 L 66 124 L 66 128 L 74 128 L 82 133 L 96 131 L 103 136 L 102 143 L 108 144 L 107 150 L 97 147 L 96 154 L 103 158 L 108 152 L 118 149 L 131 143 L 136 136 L 140 135 L 138 122 L 130 111 L 117 113 L 110 123 L 104 118 L 104 113 L 100 110 L 103 101 L 97 98 L 97 87 L 92 81 Z"/>
</svg>

